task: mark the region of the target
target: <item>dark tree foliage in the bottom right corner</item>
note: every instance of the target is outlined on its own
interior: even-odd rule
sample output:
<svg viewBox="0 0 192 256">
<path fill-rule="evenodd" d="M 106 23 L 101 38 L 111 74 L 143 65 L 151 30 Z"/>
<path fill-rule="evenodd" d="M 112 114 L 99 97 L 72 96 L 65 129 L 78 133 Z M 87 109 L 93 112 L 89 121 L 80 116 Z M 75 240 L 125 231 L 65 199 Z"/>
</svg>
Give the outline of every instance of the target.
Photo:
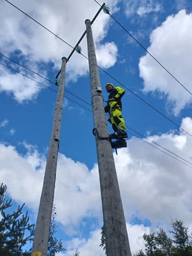
<svg viewBox="0 0 192 256">
<path fill-rule="evenodd" d="M 182 221 L 172 222 L 171 237 L 163 228 L 155 234 L 144 234 L 145 253 L 140 250 L 134 256 L 192 256 L 192 240 L 189 229 Z"/>
</svg>

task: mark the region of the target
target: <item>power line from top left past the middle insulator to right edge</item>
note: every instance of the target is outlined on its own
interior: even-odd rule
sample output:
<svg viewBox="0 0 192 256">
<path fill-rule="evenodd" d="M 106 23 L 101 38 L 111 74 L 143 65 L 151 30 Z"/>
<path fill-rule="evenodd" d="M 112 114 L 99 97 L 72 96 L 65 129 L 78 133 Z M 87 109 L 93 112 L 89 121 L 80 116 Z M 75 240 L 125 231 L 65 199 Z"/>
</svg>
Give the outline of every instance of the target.
<svg viewBox="0 0 192 256">
<path fill-rule="evenodd" d="M 10 3 L 10 1 L 6 0 L 8 3 Z M 95 2 L 97 2 L 96 0 L 94 0 Z M 98 3 L 98 2 L 97 2 Z M 15 8 L 17 8 L 17 6 L 15 6 L 14 4 L 10 3 L 12 6 L 14 6 Z M 99 4 L 99 3 L 98 3 Z M 99 4 L 99 6 L 101 6 Z M 29 17 L 30 19 L 32 19 L 33 21 L 37 22 L 36 19 L 30 17 L 30 15 L 28 15 L 26 12 L 23 12 L 21 9 L 17 8 L 17 10 L 21 11 L 24 15 L 26 15 L 27 17 Z M 108 13 L 109 14 L 109 13 Z M 110 14 L 109 14 L 110 15 Z M 111 15 L 112 17 L 112 15 Z M 37 22 L 37 24 L 39 24 L 40 26 L 42 26 L 43 28 L 45 28 L 48 32 L 52 33 L 52 35 L 55 35 L 55 33 L 53 33 L 52 31 L 50 31 L 50 29 L 46 28 L 44 25 L 42 25 L 40 22 Z M 55 35 L 56 36 L 56 35 Z M 58 37 L 58 36 L 57 36 Z M 60 37 L 58 37 L 62 42 L 68 44 L 66 41 L 62 40 Z M 134 37 L 135 38 L 135 37 Z M 136 39 L 135 39 L 136 40 Z M 138 42 L 140 44 L 140 42 Z M 71 46 L 70 44 L 68 44 L 70 47 L 72 47 L 74 49 L 73 46 Z M 141 44 L 142 46 L 142 44 Z M 144 48 L 144 46 L 142 46 L 142 48 L 144 50 L 146 50 Z M 147 50 L 146 50 L 147 51 Z M 80 53 L 82 56 L 84 56 L 82 53 Z M 84 56 L 86 59 L 88 59 L 86 56 Z M 98 66 L 99 69 L 101 69 L 102 71 L 104 71 L 104 69 L 100 68 Z M 104 73 L 108 74 L 108 72 L 104 71 Z M 153 110 L 155 110 L 157 113 L 161 114 L 162 117 L 166 118 L 168 121 L 171 121 L 171 123 L 173 123 L 177 128 L 179 128 L 180 130 L 184 131 L 185 133 L 187 133 L 188 135 L 190 135 L 192 137 L 192 135 L 187 132 L 186 130 L 184 130 L 184 128 L 181 128 L 177 123 L 175 123 L 174 121 L 172 121 L 169 117 L 166 117 L 165 114 L 163 114 L 162 112 L 160 112 L 160 110 L 157 110 L 155 107 L 153 107 L 153 105 L 151 105 L 150 103 L 148 103 L 147 101 L 145 101 L 144 99 L 142 99 L 142 97 L 138 96 L 137 94 L 135 94 L 135 92 L 133 92 L 131 89 L 128 89 L 128 87 L 126 87 L 125 85 L 123 85 L 122 83 L 120 83 L 116 78 L 114 78 L 113 76 L 111 76 L 110 74 L 108 74 L 108 76 L 110 76 L 111 78 L 113 78 L 115 81 L 117 81 L 117 83 L 119 83 L 120 85 L 122 85 L 122 87 L 126 88 L 129 92 L 131 92 L 133 95 L 135 95 L 138 99 L 140 99 L 141 101 L 143 101 L 144 103 L 146 103 L 146 105 L 148 105 L 150 108 L 152 108 Z"/>
</svg>

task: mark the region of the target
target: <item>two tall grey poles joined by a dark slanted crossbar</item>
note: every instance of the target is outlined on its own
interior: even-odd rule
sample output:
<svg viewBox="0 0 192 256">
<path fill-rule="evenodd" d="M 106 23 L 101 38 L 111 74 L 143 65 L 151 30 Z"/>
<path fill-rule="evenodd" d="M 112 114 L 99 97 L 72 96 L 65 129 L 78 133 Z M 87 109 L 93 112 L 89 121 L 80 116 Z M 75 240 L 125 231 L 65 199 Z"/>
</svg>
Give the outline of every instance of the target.
<svg viewBox="0 0 192 256">
<path fill-rule="evenodd" d="M 86 20 L 85 33 L 77 42 L 77 45 L 70 53 L 70 56 L 68 56 L 68 58 L 62 58 L 61 69 L 56 76 L 55 84 L 58 86 L 57 102 L 55 105 L 55 114 L 52 123 L 52 133 L 50 137 L 48 159 L 46 162 L 44 184 L 41 191 L 41 199 L 39 203 L 39 211 L 35 227 L 35 236 L 32 245 L 32 256 L 48 255 L 48 239 L 50 233 L 52 204 L 55 192 L 55 178 L 57 171 L 57 157 L 59 152 L 61 116 L 64 101 L 66 62 L 68 62 L 75 50 L 78 53 L 81 53 L 81 47 L 79 46 L 79 42 L 81 42 L 85 34 L 87 35 L 88 41 L 88 61 L 90 67 L 91 96 L 93 104 L 93 117 L 95 123 L 95 139 L 97 144 L 99 179 L 104 215 L 106 255 L 131 256 L 131 250 L 128 242 L 128 234 L 126 230 L 126 222 L 124 219 L 124 211 L 122 207 L 122 199 L 117 181 L 117 173 L 115 170 L 115 162 L 113 159 L 113 153 L 111 151 L 112 135 L 111 137 L 108 135 L 108 128 L 104 112 L 104 102 L 102 97 L 102 88 L 99 82 L 95 47 L 91 31 L 91 24 L 94 22 L 97 15 L 103 8 L 105 12 L 109 14 L 108 8 L 106 8 L 105 4 L 103 4 L 93 18 L 92 22 L 90 22 L 90 20 L 88 19 Z M 59 74 L 61 74 L 61 78 L 58 81 L 57 78 Z"/>
</svg>

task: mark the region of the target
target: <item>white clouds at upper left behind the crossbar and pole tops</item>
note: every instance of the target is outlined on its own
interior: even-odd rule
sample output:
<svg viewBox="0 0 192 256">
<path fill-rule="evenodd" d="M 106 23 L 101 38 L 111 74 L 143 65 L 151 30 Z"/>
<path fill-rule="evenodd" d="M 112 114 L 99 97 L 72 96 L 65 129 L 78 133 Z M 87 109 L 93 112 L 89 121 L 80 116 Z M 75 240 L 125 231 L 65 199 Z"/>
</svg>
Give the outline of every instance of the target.
<svg viewBox="0 0 192 256">
<path fill-rule="evenodd" d="M 30 67 L 38 73 L 48 73 L 48 65 L 52 63 L 54 69 L 59 71 L 61 57 L 66 56 L 73 50 L 72 47 L 86 30 L 85 20 L 92 20 L 99 5 L 94 1 L 84 0 L 81 4 L 72 4 L 71 1 L 15 1 L 15 6 L 28 13 L 37 22 L 58 35 L 57 37 L 46 31 L 36 22 L 23 15 L 22 12 L 11 6 L 8 2 L 1 3 L 1 31 L 0 50 L 8 57 L 17 56 L 19 61 L 23 60 L 24 66 Z M 111 12 L 115 10 L 117 1 L 108 1 Z M 115 64 L 117 47 L 113 42 L 102 46 L 100 41 L 104 39 L 108 31 L 109 16 L 101 12 L 93 24 L 93 35 L 98 52 L 104 49 L 104 56 L 99 54 L 99 62 L 103 67 L 111 67 Z M 72 47 L 71 47 L 72 46 Z M 81 42 L 82 53 L 87 56 L 86 36 Z M 107 57 L 107 60 L 105 59 Z M 3 59 L 4 60 L 4 59 Z M 41 63 L 45 69 L 41 70 Z M 14 98 L 19 101 L 35 99 L 39 93 L 39 87 L 30 83 L 26 78 L 18 74 L 10 74 L 8 69 L 2 68 L 3 74 L 0 77 L 0 90 L 11 92 Z M 68 79 L 77 81 L 79 76 L 88 74 L 88 61 L 78 53 L 74 53 L 68 65 Z M 31 76 L 31 75 L 30 75 Z"/>
</svg>

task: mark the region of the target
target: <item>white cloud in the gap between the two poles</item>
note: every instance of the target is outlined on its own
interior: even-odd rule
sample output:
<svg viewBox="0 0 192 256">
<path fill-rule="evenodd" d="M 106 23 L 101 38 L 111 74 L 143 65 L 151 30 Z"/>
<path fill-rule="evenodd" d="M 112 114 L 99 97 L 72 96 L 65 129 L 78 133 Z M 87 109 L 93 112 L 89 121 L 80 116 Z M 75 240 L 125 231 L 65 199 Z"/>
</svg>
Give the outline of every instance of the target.
<svg viewBox="0 0 192 256">
<path fill-rule="evenodd" d="M 98 217 L 101 203 L 97 166 L 89 171 L 85 164 L 59 155 L 55 205 L 60 209 L 57 220 L 72 228 L 83 216 Z"/>
</svg>

